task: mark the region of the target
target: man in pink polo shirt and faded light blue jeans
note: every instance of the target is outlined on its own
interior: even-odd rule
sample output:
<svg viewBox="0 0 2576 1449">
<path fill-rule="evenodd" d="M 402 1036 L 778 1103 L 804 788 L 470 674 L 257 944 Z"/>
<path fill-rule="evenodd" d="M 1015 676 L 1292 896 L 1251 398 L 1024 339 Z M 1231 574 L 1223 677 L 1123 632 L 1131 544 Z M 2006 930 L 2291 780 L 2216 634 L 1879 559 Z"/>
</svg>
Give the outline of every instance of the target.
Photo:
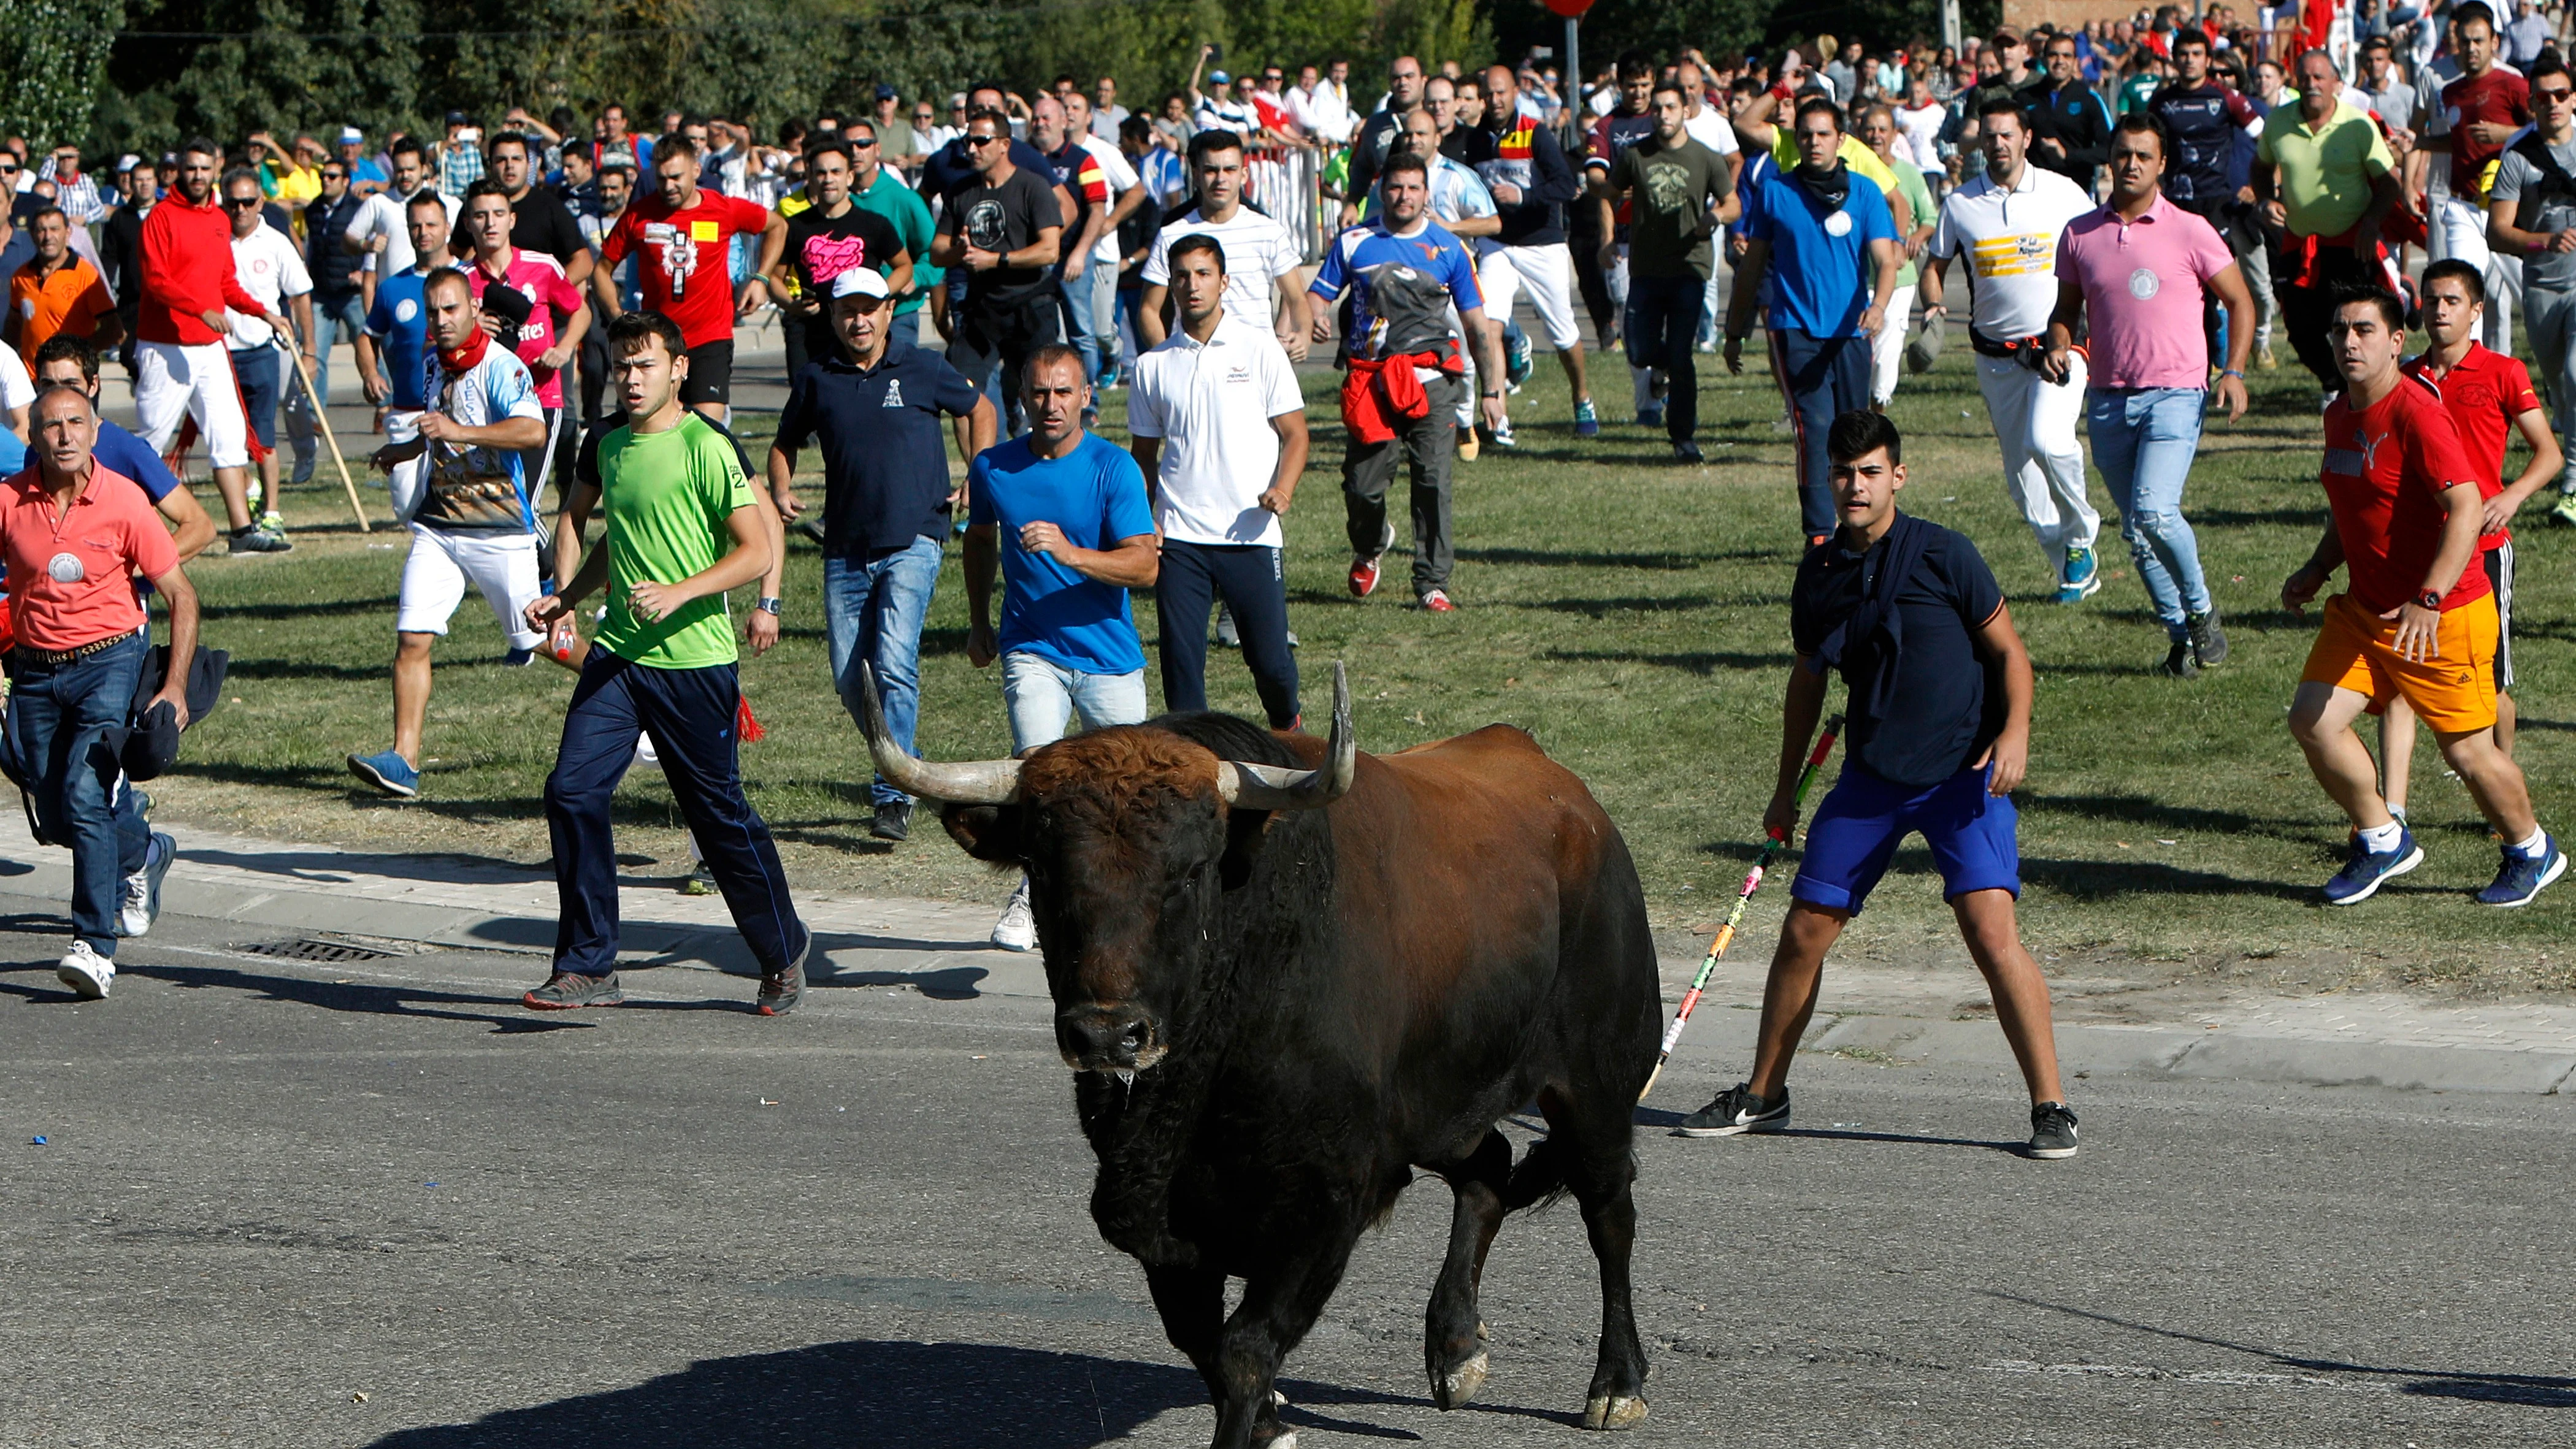
<svg viewBox="0 0 2576 1449">
<path fill-rule="evenodd" d="M 2218 401 L 2228 422 L 2246 412 L 2246 347 L 2254 293 L 2236 255 L 2200 216 L 2164 198 L 2164 129 L 2136 111 L 2110 136 L 2110 201 L 2066 224 L 2058 239 L 2058 311 L 2048 319 L 2040 376 L 2066 381 L 2079 317 L 2092 319 L 2084 360 L 2092 386 L 2084 425 L 2094 466 L 2120 510 L 2120 538 L 2172 649 L 2161 672 L 2190 679 L 2228 656 L 2218 600 L 2200 574 L 2200 540 L 2182 517 L 2182 484 L 2200 453 L 2210 399 L 2210 345 L 2200 309 L 2228 309 L 2228 365 Z"/>
</svg>

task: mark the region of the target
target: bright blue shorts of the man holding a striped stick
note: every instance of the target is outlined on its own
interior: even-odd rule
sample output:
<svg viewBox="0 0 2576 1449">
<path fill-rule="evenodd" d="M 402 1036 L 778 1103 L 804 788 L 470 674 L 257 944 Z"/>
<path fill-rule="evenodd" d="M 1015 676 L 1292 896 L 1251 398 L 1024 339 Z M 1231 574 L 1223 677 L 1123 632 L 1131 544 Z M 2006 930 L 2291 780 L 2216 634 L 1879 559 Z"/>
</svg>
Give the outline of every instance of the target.
<svg viewBox="0 0 2576 1449">
<path fill-rule="evenodd" d="M 1986 793 L 1991 767 L 1968 767 L 1940 785 L 1896 785 L 1860 764 L 1816 806 L 1806 826 L 1806 854 L 1788 893 L 1808 906 L 1860 914 L 1878 878 L 1896 860 L 1896 844 L 1922 831 L 1940 867 L 1942 901 L 1971 891 L 2022 896 L 2020 811 Z"/>
</svg>

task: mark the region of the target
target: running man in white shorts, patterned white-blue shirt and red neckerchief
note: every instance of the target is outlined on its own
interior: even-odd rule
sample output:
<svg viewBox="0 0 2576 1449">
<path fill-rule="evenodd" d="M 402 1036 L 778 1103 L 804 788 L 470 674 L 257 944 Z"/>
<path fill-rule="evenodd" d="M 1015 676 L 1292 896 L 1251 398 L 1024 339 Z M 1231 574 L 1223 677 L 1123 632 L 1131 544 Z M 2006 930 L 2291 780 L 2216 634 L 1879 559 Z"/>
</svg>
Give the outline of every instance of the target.
<svg viewBox="0 0 2576 1449">
<path fill-rule="evenodd" d="M 489 201 L 507 214 L 497 193 Z M 350 775 L 404 800 L 420 795 L 430 646 L 466 602 L 466 584 L 492 605 L 513 661 L 533 659 L 546 641 L 523 618 L 538 595 L 526 468 L 531 456 L 544 463 L 536 450 L 546 445 L 546 409 L 528 365 L 484 332 L 461 270 L 430 273 L 422 301 L 438 358 L 425 381 L 430 407 L 417 435 L 374 458 L 392 479 L 394 515 L 412 525 L 394 607 L 394 749 L 348 757 Z"/>
</svg>

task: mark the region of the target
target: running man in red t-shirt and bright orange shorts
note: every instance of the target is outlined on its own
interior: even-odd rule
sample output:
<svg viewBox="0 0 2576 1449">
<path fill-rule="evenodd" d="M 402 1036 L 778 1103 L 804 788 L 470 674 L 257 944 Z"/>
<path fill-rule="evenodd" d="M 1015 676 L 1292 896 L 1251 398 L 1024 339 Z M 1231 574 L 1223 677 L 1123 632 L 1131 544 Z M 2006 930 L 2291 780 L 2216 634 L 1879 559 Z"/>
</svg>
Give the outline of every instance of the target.
<svg viewBox="0 0 2576 1449">
<path fill-rule="evenodd" d="M 2308 564 L 2280 587 L 2280 602 L 2303 610 L 2336 566 L 2349 571 L 2349 589 L 2326 600 L 2290 700 L 2290 734 L 2354 829 L 2326 903 L 2367 901 L 2424 862 L 2352 731 L 2372 703 L 2403 697 L 2504 839 L 2504 865 L 2478 903 L 2527 906 L 2566 872 L 2566 854 L 2532 818 L 2522 770 L 2496 749 L 2496 595 L 2476 566 L 2486 525 L 2478 463 L 2442 396 L 2398 371 L 2406 304 L 2396 293 L 2349 291 L 2331 337 L 2344 371 L 2344 396 L 2326 407 L 2318 476 L 2331 520 Z"/>
</svg>

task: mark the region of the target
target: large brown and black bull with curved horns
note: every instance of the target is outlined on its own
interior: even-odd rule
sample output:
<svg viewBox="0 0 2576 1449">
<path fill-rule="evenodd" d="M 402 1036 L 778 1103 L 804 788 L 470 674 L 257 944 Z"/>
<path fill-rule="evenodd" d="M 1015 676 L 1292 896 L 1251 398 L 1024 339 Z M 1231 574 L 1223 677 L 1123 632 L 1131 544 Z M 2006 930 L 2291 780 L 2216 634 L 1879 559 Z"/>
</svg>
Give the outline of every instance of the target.
<svg viewBox="0 0 2576 1449">
<path fill-rule="evenodd" d="M 1414 1168 L 1455 1192 L 1432 1400 L 1486 1377 L 1504 1212 L 1574 1192 L 1602 1279 L 1584 1423 L 1646 1418 L 1628 1135 L 1662 1006 L 1636 865 L 1582 780 L 1510 726 L 1360 754 L 1340 667 L 1329 744 L 1188 713 L 979 764 L 907 757 L 863 692 L 876 767 L 1028 870 L 1092 1217 L 1144 1264 L 1218 1449 L 1296 1439 L 1280 1359 Z M 1548 1135 L 1515 1166 L 1494 1125 L 1528 1102 Z"/>
</svg>

